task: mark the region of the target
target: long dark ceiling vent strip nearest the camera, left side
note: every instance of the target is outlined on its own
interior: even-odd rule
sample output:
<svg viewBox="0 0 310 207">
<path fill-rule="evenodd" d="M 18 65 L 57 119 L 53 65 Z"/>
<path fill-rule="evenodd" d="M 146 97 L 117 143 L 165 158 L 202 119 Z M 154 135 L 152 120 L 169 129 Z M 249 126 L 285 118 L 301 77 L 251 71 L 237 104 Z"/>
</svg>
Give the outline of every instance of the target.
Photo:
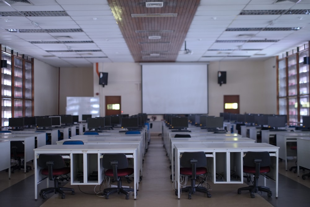
<svg viewBox="0 0 310 207">
<path fill-rule="evenodd" d="M 0 11 L 0 16 L 69 16 L 66 11 Z"/>
</svg>

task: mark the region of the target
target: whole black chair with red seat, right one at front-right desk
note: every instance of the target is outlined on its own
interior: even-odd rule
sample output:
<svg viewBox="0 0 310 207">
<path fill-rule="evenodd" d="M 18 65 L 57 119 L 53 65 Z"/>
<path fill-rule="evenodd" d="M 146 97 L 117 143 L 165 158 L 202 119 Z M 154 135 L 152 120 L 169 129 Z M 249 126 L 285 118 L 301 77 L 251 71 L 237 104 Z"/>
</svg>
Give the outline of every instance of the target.
<svg viewBox="0 0 310 207">
<path fill-rule="evenodd" d="M 250 191 L 251 198 L 255 198 L 254 193 L 258 191 L 267 192 L 268 197 L 272 196 L 272 191 L 269 187 L 259 186 L 258 179 L 260 174 L 270 172 L 270 155 L 269 152 L 247 152 L 243 160 L 243 172 L 254 175 L 254 183 L 248 187 L 241 187 L 238 189 L 238 194 L 241 191 Z"/>
</svg>

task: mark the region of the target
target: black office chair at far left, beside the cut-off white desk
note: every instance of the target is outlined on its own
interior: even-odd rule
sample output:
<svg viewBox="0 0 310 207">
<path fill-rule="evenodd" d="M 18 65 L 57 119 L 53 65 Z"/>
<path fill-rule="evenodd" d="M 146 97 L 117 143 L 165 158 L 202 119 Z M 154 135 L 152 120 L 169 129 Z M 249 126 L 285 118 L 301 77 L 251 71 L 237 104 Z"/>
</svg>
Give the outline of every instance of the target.
<svg viewBox="0 0 310 207">
<path fill-rule="evenodd" d="M 22 161 L 25 157 L 25 146 L 22 141 L 11 141 L 11 159 L 14 159 L 18 161 L 18 164 L 11 166 L 11 173 L 14 173 L 14 171 L 24 169 L 24 163 L 25 160 Z M 26 172 L 28 173 L 29 170 L 32 170 L 32 167 L 30 165 L 26 165 Z"/>
</svg>

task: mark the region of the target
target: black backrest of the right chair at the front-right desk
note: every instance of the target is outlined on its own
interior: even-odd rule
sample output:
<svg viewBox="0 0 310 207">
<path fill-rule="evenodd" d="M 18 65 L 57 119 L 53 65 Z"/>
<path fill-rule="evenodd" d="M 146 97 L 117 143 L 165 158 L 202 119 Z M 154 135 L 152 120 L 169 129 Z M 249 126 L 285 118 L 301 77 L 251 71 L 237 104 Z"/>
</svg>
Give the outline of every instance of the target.
<svg viewBox="0 0 310 207">
<path fill-rule="evenodd" d="M 247 152 L 246 155 L 244 156 L 243 159 L 243 164 L 245 166 L 249 166 L 249 167 L 255 167 L 255 159 L 260 159 L 262 160 L 260 162 L 260 167 L 266 167 L 266 166 L 270 166 L 271 164 L 271 159 L 270 159 L 270 155 L 269 152 L 267 151 L 263 151 L 263 152 Z"/>
</svg>

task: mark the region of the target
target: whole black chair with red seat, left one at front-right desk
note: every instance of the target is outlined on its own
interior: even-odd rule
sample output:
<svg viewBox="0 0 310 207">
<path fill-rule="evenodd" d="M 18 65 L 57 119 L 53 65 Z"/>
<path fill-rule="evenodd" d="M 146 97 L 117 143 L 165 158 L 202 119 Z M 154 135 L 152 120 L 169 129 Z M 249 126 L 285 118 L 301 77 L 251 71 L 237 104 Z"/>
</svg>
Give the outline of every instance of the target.
<svg viewBox="0 0 310 207">
<path fill-rule="evenodd" d="M 210 198 L 211 194 L 207 188 L 196 186 L 196 178 L 199 175 L 207 174 L 207 159 L 204 152 L 183 152 L 180 160 L 181 168 L 180 175 L 191 176 L 191 186 L 181 188 L 181 192 L 188 192 L 188 199 L 192 199 L 192 194 L 195 192 L 206 193 Z M 178 190 L 175 190 L 175 195 L 178 195 Z"/>
</svg>

